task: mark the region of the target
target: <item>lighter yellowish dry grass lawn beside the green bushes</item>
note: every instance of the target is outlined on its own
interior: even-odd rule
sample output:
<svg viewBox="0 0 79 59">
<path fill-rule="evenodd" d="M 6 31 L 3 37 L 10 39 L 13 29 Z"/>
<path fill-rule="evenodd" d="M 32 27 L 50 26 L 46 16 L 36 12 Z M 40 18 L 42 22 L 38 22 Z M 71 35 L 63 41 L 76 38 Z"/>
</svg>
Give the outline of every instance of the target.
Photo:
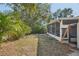
<svg viewBox="0 0 79 59">
<path fill-rule="evenodd" d="M 1 44 L 0 55 L 35 56 L 37 55 L 37 43 L 36 35 L 28 35 L 13 42 L 5 42 Z"/>
</svg>

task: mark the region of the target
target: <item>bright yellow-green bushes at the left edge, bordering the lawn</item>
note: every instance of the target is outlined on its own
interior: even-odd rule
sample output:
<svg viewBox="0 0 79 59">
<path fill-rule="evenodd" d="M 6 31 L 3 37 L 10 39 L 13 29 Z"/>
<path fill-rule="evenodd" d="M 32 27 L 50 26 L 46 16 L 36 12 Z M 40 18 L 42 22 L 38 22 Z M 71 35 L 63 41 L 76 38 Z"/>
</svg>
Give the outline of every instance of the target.
<svg viewBox="0 0 79 59">
<path fill-rule="evenodd" d="M 0 42 L 16 40 L 20 36 L 31 33 L 31 27 L 22 20 L 12 20 L 10 17 L 0 15 Z"/>
</svg>

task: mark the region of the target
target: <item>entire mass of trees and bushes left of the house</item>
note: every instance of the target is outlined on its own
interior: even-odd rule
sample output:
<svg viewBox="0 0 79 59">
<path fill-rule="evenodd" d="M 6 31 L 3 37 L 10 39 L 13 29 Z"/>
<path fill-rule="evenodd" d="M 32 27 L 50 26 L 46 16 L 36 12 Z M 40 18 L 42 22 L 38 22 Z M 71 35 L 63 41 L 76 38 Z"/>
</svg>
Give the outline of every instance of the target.
<svg viewBox="0 0 79 59">
<path fill-rule="evenodd" d="M 15 40 L 29 33 L 44 33 L 51 18 L 50 4 L 6 4 L 12 11 L 0 13 L 0 41 Z"/>
</svg>

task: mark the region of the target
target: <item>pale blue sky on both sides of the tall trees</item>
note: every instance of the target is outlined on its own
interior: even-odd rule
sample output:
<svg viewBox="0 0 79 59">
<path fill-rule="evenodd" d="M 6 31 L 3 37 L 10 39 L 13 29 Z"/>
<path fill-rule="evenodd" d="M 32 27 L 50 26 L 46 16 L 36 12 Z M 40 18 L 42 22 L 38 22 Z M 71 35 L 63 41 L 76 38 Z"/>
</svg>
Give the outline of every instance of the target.
<svg viewBox="0 0 79 59">
<path fill-rule="evenodd" d="M 64 8 L 72 8 L 73 15 L 79 15 L 79 4 L 78 3 L 52 3 L 51 4 L 51 12 L 54 13 L 57 9 L 64 9 Z M 5 4 L 0 4 L 0 11 L 11 10 L 9 6 Z"/>
</svg>

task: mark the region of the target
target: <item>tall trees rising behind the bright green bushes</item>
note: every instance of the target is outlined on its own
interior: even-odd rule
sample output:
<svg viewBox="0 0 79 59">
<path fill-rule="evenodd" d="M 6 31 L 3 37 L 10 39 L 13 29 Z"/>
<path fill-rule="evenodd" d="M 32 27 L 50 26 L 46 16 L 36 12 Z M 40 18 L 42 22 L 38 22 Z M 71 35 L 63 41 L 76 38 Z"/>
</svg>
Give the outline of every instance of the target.
<svg viewBox="0 0 79 59">
<path fill-rule="evenodd" d="M 31 27 L 32 33 L 34 33 L 33 31 L 36 32 L 38 29 L 40 30 L 40 27 L 41 28 L 43 27 L 42 25 L 38 25 L 39 20 L 49 22 L 51 18 L 50 4 L 23 3 L 23 4 L 9 4 L 9 5 L 14 10 L 14 12 L 19 12 L 21 20 L 26 22 L 26 24 Z M 35 29 L 37 26 L 39 28 Z M 37 31 L 38 33 L 40 31 L 43 31 L 43 29 L 41 29 L 40 31 L 39 30 Z"/>
</svg>

